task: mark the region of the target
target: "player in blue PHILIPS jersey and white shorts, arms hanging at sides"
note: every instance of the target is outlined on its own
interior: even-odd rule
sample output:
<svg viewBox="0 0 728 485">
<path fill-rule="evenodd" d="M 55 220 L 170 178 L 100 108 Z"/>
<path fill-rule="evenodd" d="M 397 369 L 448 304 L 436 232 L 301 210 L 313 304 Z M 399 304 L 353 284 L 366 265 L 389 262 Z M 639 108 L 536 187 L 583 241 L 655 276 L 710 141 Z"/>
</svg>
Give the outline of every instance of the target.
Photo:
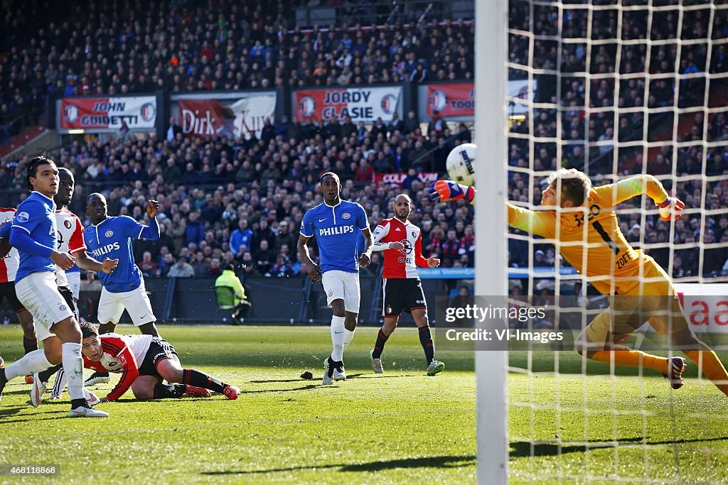
<svg viewBox="0 0 728 485">
<path fill-rule="evenodd" d="M 344 349 L 354 337 L 359 315 L 359 267 L 366 268 L 371 260 L 372 237 L 364 208 L 356 202 L 342 201 L 341 182 L 333 172 L 326 172 L 320 179 L 323 204 L 304 215 L 301 236 L 298 238 L 298 254 L 306 262 L 309 276 L 321 281 L 328 305 L 333 309 L 331 317 L 331 342 L 333 352 L 324 364 L 323 383 L 344 380 Z M 357 237 L 365 238 L 363 253 L 357 250 Z M 316 237 L 320 253 L 320 266 L 311 260 L 306 242 Z M 321 275 L 323 273 L 323 276 Z"/>
</svg>

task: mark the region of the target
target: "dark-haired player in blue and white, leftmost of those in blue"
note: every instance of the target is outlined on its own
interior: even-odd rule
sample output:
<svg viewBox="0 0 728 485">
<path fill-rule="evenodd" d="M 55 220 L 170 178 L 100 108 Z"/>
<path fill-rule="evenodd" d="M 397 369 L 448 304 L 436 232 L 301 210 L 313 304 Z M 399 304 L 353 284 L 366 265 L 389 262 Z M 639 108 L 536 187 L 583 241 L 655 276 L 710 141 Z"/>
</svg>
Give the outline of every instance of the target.
<svg viewBox="0 0 728 485">
<path fill-rule="evenodd" d="M 26 178 L 33 191 L 17 208 L 10 244 L 20 254 L 15 276 L 17 297 L 33 315 L 33 326 L 44 348 L 0 369 L 0 397 L 7 381 L 62 362 L 71 395 L 70 415 L 106 417 L 108 413 L 92 409 L 84 397 L 81 330 L 55 281 L 56 265 L 66 270 L 75 260 L 71 254 L 56 250 L 58 236 L 52 196 L 58 193 L 58 167 L 45 157 L 36 157 L 28 164 Z M 105 273 L 111 273 L 115 266 L 111 260 L 103 264 L 93 262 L 95 268 Z"/>
</svg>

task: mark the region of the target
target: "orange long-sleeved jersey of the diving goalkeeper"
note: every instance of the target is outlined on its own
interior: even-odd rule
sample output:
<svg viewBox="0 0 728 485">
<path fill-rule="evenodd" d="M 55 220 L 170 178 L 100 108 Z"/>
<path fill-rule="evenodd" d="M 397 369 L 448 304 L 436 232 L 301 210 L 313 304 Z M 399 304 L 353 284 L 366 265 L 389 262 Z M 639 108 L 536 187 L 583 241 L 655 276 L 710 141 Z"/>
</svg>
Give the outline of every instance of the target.
<svg viewBox="0 0 728 485">
<path fill-rule="evenodd" d="M 508 223 L 553 240 L 564 259 L 602 294 L 622 294 L 639 283 L 648 256 L 633 249 L 622 235 L 614 206 L 643 192 L 653 200 L 667 198 L 654 177 L 639 175 L 592 188 L 584 205 L 558 212 L 508 204 Z"/>
</svg>

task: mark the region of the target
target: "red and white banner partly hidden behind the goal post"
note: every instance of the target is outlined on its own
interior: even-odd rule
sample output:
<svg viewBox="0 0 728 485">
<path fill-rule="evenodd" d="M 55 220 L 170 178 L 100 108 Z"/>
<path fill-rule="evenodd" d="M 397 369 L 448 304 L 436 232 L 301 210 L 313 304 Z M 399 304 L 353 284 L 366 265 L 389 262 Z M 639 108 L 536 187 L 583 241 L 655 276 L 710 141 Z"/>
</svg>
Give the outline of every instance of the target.
<svg viewBox="0 0 728 485">
<path fill-rule="evenodd" d="M 508 81 L 508 96 L 533 101 L 536 88 L 535 79 L 533 89 L 529 89 L 528 79 Z M 475 117 L 475 84 L 428 84 L 427 116 L 432 118 L 432 112 L 435 110 L 440 111 L 440 116 L 443 118 Z M 528 106 L 525 103 L 513 103 L 508 106 L 509 114 L 523 114 L 527 111 Z"/>
</svg>

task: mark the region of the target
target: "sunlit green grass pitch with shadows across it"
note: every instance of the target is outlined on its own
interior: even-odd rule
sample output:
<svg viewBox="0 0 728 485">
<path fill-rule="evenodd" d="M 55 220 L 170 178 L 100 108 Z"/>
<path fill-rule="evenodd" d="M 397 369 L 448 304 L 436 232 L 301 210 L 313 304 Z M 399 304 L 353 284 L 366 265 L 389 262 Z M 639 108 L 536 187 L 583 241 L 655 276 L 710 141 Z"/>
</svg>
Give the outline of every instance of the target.
<svg viewBox="0 0 728 485">
<path fill-rule="evenodd" d="M 345 354 L 349 379 L 323 386 L 325 327 L 160 332 L 183 366 L 238 385 L 242 396 L 140 403 L 128 393 L 99 406 L 108 419 L 70 419 L 68 393 L 34 409 L 31 386 L 15 380 L 0 404 L 0 465 L 61 470 L 0 483 L 475 483 L 472 353 L 438 353 L 446 370 L 427 377 L 416 332 L 403 328 L 387 342 L 386 373 L 375 375 L 376 329 L 361 328 Z M 6 361 L 20 357 L 21 337 L 17 325 L 0 327 Z M 509 378 L 511 483 L 728 483 L 728 399 L 713 385 L 691 374 L 673 392 L 659 376 L 614 377 L 594 363 L 585 378 L 571 353 L 553 374 L 553 356 L 510 358 L 534 371 Z M 306 369 L 314 380 L 299 377 Z"/>
</svg>

